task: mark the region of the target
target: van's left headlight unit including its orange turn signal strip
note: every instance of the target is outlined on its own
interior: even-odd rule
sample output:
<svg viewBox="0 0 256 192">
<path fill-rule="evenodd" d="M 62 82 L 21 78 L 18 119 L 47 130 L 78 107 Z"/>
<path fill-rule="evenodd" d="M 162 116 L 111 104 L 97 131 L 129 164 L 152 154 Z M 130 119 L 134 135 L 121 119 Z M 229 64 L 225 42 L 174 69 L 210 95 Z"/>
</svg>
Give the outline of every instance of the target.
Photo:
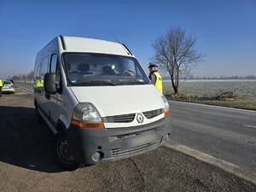
<svg viewBox="0 0 256 192">
<path fill-rule="evenodd" d="M 105 128 L 100 113 L 90 102 L 82 102 L 75 106 L 72 124 L 81 128 Z"/>
</svg>

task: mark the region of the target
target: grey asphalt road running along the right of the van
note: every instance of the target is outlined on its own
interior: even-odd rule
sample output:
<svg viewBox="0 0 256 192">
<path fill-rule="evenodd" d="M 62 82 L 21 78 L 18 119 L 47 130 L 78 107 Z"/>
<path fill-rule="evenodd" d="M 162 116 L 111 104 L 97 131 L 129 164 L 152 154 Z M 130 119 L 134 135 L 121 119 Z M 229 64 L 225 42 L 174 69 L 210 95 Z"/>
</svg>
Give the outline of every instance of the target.
<svg viewBox="0 0 256 192">
<path fill-rule="evenodd" d="M 193 148 L 236 168 L 256 183 L 256 112 L 169 102 L 174 145 Z M 182 150 L 182 148 L 180 148 Z"/>
</svg>

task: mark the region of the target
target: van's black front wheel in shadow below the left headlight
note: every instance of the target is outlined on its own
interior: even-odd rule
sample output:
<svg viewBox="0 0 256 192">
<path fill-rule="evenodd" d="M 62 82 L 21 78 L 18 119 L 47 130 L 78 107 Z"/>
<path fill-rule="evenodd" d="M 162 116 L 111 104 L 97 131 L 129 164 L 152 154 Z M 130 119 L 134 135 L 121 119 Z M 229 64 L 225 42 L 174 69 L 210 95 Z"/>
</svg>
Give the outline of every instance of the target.
<svg viewBox="0 0 256 192">
<path fill-rule="evenodd" d="M 64 131 L 59 131 L 55 134 L 54 154 L 57 163 L 67 171 L 74 171 L 82 166 L 81 163 L 73 159 Z"/>
</svg>

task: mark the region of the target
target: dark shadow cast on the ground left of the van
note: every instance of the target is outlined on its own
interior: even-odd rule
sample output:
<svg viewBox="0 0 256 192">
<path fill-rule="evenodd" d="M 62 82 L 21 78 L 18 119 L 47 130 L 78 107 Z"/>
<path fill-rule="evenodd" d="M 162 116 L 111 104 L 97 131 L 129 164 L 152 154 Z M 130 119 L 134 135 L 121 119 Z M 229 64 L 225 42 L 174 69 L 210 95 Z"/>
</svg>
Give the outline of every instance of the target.
<svg viewBox="0 0 256 192">
<path fill-rule="evenodd" d="M 35 121 L 35 109 L 0 106 L 0 161 L 39 172 L 62 172 L 53 158 L 54 135 Z"/>
</svg>

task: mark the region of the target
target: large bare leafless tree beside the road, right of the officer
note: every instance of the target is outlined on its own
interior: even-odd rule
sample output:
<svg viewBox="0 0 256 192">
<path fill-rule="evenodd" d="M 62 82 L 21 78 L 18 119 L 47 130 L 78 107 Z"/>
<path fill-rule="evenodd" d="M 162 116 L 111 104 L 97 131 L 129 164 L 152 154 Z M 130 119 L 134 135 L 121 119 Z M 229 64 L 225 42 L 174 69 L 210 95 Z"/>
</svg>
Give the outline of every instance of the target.
<svg viewBox="0 0 256 192">
<path fill-rule="evenodd" d="M 170 74 L 174 94 L 179 88 L 179 79 L 187 79 L 191 70 L 203 61 L 203 55 L 195 50 L 196 39 L 178 27 L 171 27 L 166 35 L 157 38 L 152 47 L 152 60 Z"/>
</svg>

